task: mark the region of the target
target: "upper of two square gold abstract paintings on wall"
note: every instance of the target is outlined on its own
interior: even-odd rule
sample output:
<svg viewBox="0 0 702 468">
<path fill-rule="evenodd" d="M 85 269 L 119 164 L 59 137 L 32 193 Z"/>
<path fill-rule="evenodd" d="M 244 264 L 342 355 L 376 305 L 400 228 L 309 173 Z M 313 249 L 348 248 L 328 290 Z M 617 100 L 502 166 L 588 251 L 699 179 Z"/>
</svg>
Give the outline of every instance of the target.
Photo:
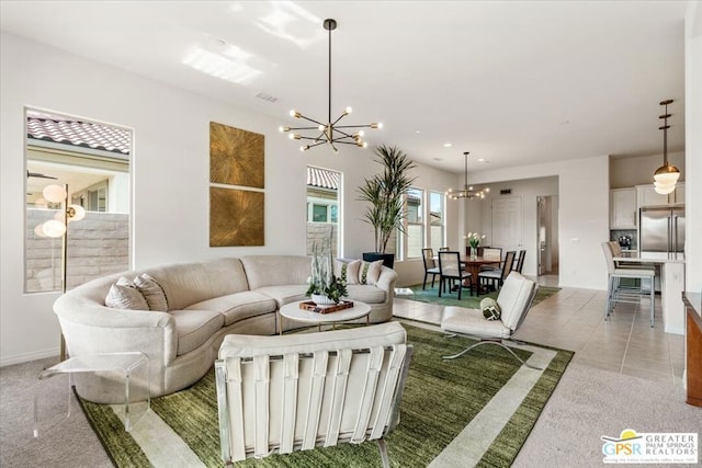
<svg viewBox="0 0 702 468">
<path fill-rule="evenodd" d="M 210 182 L 263 189 L 263 135 L 210 123 Z"/>
</svg>

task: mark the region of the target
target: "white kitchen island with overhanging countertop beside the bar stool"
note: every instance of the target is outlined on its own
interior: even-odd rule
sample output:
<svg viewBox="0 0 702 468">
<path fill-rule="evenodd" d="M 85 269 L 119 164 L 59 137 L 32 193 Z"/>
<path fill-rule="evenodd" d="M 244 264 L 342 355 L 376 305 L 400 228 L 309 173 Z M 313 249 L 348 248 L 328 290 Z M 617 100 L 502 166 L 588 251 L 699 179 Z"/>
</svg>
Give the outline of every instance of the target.
<svg viewBox="0 0 702 468">
<path fill-rule="evenodd" d="M 614 262 L 653 263 L 660 274 L 660 306 L 666 333 L 684 334 L 684 254 L 665 252 L 622 252 Z M 658 273 L 656 273 L 658 274 Z M 652 285 L 653 287 L 653 285 Z"/>
</svg>

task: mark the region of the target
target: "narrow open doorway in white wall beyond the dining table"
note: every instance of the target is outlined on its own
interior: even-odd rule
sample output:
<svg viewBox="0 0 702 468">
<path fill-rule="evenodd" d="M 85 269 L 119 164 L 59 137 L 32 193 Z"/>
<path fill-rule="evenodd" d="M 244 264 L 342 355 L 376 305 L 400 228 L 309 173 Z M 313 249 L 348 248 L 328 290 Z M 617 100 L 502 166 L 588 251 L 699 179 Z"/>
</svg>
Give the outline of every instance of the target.
<svg viewBox="0 0 702 468">
<path fill-rule="evenodd" d="M 536 197 L 537 274 L 540 284 L 558 285 L 558 196 Z"/>
</svg>

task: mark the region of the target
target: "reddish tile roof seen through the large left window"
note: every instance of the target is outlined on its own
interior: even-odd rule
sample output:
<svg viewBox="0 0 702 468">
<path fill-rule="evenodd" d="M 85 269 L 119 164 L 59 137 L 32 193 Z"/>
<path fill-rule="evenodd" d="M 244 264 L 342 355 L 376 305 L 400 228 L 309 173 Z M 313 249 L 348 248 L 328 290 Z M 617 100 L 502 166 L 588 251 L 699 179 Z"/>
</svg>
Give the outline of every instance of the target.
<svg viewBox="0 0 702 468">
<path fill-rule="evenodd" d="M 129 155 L 132 140 L 127 129 L 35 111 L 26 115 L 27 138 Z"/>
</svg>

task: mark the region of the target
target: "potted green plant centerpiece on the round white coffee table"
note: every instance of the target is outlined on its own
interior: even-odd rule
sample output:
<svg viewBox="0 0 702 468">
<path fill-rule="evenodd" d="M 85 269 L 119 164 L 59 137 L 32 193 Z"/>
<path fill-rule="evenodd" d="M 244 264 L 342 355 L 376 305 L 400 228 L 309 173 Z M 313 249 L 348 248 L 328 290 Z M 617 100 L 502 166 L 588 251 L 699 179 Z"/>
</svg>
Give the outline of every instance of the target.
<svg viewBox="0 0 702 468">
<path fill-rule="evenodd" d="M 319 306 L 339 304 L 342 297 L 349 295 L 346 282 L 333 274 L 331 236 L 321 243 L 315 242 L 312 248 L 312 276 L 305 294 Z"/>
</svg>

